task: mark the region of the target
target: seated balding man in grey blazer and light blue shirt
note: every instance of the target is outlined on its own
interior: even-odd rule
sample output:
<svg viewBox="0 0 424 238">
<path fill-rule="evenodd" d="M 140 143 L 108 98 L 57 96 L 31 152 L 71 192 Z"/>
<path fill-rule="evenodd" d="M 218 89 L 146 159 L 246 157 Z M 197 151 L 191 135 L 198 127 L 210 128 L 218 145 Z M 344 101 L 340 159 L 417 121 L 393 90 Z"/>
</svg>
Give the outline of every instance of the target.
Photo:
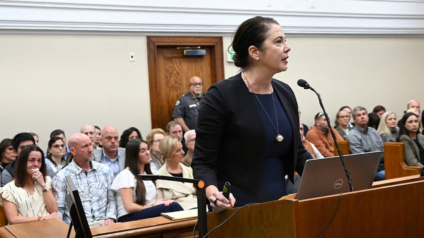
<svg viewBox="0 0 424 238">
<path fill-rule="evenodd" d="M 113 178 L 125 168 L 125 148 L 118 147 L 119 135 L 113 126 L 106 126 L 101 131 L 102 149 L 93 150 L 94 160 L 109 166 Z"/>
</svg>

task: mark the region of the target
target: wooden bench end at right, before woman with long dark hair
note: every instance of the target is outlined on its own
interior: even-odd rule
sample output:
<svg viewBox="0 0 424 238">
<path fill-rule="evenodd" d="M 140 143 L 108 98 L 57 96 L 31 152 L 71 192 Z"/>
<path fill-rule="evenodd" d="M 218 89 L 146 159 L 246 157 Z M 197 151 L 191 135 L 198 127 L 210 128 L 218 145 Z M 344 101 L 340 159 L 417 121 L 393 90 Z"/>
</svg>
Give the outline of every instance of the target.
<svg viewBox="0 0 424 238">
<path fill-rule="evenodd" d="M 385 179 L 410 175 L 419 175 L 421 167 L 405 163 L 405 145 L 403 142 L 384 142 Z"/>
</svg>

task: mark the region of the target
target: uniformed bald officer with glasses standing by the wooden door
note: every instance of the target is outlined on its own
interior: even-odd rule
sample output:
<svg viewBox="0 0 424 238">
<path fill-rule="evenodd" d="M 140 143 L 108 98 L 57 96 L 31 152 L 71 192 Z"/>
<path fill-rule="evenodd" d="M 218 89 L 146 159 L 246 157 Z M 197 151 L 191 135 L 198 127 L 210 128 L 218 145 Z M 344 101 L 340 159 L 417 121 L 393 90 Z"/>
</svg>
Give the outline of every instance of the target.
<svg viewBox="0 0 424 238">
<path fill-rule="evenodd" d="M 176 100 L 172 112 L 172 119 L 181 125 L 183 132 L 194 129 L 196 126 L 197 109 L 203 98 L 203 84 L 199 77 L 192 76 L 188 88 L 189 92 Z"/>
</svg>

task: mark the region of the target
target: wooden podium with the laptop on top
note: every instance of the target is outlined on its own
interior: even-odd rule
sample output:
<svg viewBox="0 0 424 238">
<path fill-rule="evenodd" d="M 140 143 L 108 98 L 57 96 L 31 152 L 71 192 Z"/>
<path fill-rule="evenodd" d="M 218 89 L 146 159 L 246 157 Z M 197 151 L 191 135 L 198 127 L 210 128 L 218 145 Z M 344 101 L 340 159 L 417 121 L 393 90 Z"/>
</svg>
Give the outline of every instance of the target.
<svg viewBox="0 0 424 238">
<path fill-rule="evenodd" d="M 208 238 L 319 238 L 334 213 L 323 238 L 423 236 L 420 227 L 424 224 L 424 178 L 341 196 L 305 200 L 294 197 L 245 207 Z M 207 214 L 208 231 L 236 210 Z"/>
</svg>

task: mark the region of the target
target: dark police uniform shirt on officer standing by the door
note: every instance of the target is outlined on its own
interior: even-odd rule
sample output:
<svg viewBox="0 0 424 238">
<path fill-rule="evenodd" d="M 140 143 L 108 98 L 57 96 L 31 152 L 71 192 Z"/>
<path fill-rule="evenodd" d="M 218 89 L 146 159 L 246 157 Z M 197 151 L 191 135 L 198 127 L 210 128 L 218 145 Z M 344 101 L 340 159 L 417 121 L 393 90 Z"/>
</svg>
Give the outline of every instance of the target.
<svg viewBox="0 0 424 238">
<path fill-rule="evenodd" d="M 172 118 L 182 118 L 189 129 L 194 129 L 197 124 L 197 109 L 201 97 L 194 97 L 190 92 L 179 97 L 173 107 Z"/>
</svg>

